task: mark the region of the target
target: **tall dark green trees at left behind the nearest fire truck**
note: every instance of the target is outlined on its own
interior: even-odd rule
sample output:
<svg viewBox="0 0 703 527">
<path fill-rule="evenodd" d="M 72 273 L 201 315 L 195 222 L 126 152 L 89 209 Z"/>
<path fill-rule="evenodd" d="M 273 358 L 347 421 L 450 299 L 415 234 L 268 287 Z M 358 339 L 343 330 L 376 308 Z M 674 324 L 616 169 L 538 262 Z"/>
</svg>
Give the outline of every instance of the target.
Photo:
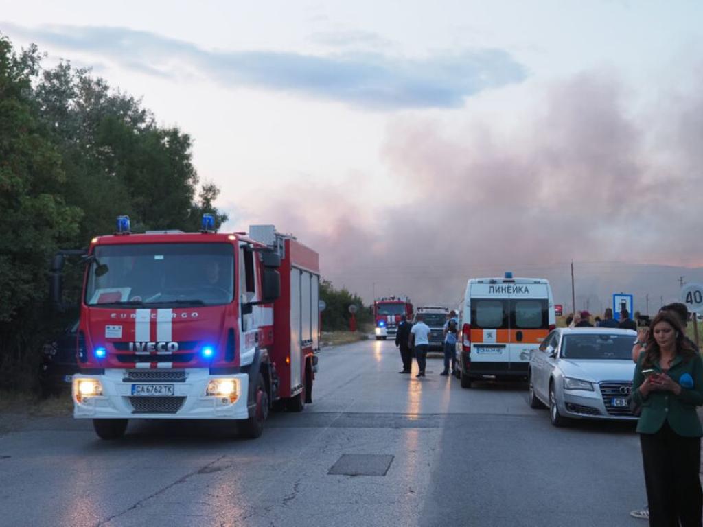
<svg viewBox="0 0 703 527">
<path fill-rule="evenodd" d="M 119 214 L 134 230 L 197 230 L 203 212 L 226 221 L 217 186 L 198 188 L 192 145 L 140 100 L 67 62 L 42 70 L 36 46 L 17 53 L 0 34 L 0 387 L 35 377 L 41 343 L 65 323 L 46 309 L 57 249 L 111 233 Z"/>
</svg>

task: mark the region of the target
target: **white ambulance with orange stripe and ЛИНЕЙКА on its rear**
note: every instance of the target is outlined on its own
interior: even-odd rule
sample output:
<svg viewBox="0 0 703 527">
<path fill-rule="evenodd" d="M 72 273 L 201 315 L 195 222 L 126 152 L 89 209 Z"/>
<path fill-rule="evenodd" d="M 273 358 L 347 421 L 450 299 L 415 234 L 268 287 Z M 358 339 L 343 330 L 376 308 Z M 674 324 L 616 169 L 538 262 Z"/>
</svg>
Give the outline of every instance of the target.
<svg viewBox="0 0 703 527">
<path fill-rule="evenodd" d="M 459 309 L 463 388 L 484 378 L 527 379 L 531 351 L 556 327 L 552 288 L 543 278 L 472 278 Z"/>
</svg>

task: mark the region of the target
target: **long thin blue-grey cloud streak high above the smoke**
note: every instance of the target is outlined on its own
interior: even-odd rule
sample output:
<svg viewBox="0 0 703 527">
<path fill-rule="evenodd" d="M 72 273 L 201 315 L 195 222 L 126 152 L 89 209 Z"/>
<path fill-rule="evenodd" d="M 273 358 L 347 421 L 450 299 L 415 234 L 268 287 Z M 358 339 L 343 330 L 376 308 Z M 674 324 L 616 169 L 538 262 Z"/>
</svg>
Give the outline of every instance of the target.
<svg viewBox="0 0 703 527">
<path fill-rule="evenodd" d="M 110 58 L 146 74 L 178 77 L 186 65 L 230 87 L 257 86 L 375 110 L 457 108 L 467 97 L 527 77 L 524 67 L 501 49 L 426 58 L 358 51 L 315 56 L 289 51 L 207 51 L 186 41 L 124 27 L 27 28 L 8 23 L 3 27 L 13 36 Z M 357 42 L 369 38 L 356 35 Z"/>
</svg>

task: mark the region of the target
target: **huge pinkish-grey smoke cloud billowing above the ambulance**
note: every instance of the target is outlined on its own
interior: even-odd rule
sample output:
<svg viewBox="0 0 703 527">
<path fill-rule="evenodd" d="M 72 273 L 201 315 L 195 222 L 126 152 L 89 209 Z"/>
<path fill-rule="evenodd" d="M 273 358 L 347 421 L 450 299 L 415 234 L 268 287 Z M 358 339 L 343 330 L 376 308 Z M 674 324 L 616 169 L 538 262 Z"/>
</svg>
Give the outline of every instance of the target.
<svg viewBox="0 0 703 527">
<path fill-rule="evenodd" d="M 403 205 L 359 204 L 373 181 L 356 176 L 341 187 L 311 178 L 248 213 L 298 235 L 327 278 L 367 300 L 456 305 L 467 278 L 514 271 L 549 278 L 570 304 L 573 259 L 579 308 L 625 291 L 643 312 L 650 295 L 653 310 L 676 299 L 677 273 L 703 280 L 703 178 L 690 172 L 701 150 L 681 139 L 703 136 L 703 95 L 670 94 L 661 111 L 633 112 L 630 100 L 616 77 L 586 72 L 535 96 L 508 131 L 466 114 L 397 117 L 382 156 Z"/>
</svg>

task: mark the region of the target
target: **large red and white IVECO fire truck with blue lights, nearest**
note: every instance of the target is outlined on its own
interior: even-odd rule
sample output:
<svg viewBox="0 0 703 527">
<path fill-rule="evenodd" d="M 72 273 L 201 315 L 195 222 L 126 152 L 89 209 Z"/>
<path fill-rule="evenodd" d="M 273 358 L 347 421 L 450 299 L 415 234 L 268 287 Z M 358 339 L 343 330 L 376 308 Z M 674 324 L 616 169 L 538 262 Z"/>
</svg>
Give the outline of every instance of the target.
<svg viewBox="0 0 703 527">
<path fill-rule="evenodd" d="M 256 438 L 274 405 L 312 402 L 318 254 L 273 226 L 93 238 L 77 337 L 74 417 L 103 439 L 128 419 L 235 420 Z M 73 253 L 73 252 L 67 252 Z M 61 304 L 64 254 L 51 297 Z"/>
</svg>

